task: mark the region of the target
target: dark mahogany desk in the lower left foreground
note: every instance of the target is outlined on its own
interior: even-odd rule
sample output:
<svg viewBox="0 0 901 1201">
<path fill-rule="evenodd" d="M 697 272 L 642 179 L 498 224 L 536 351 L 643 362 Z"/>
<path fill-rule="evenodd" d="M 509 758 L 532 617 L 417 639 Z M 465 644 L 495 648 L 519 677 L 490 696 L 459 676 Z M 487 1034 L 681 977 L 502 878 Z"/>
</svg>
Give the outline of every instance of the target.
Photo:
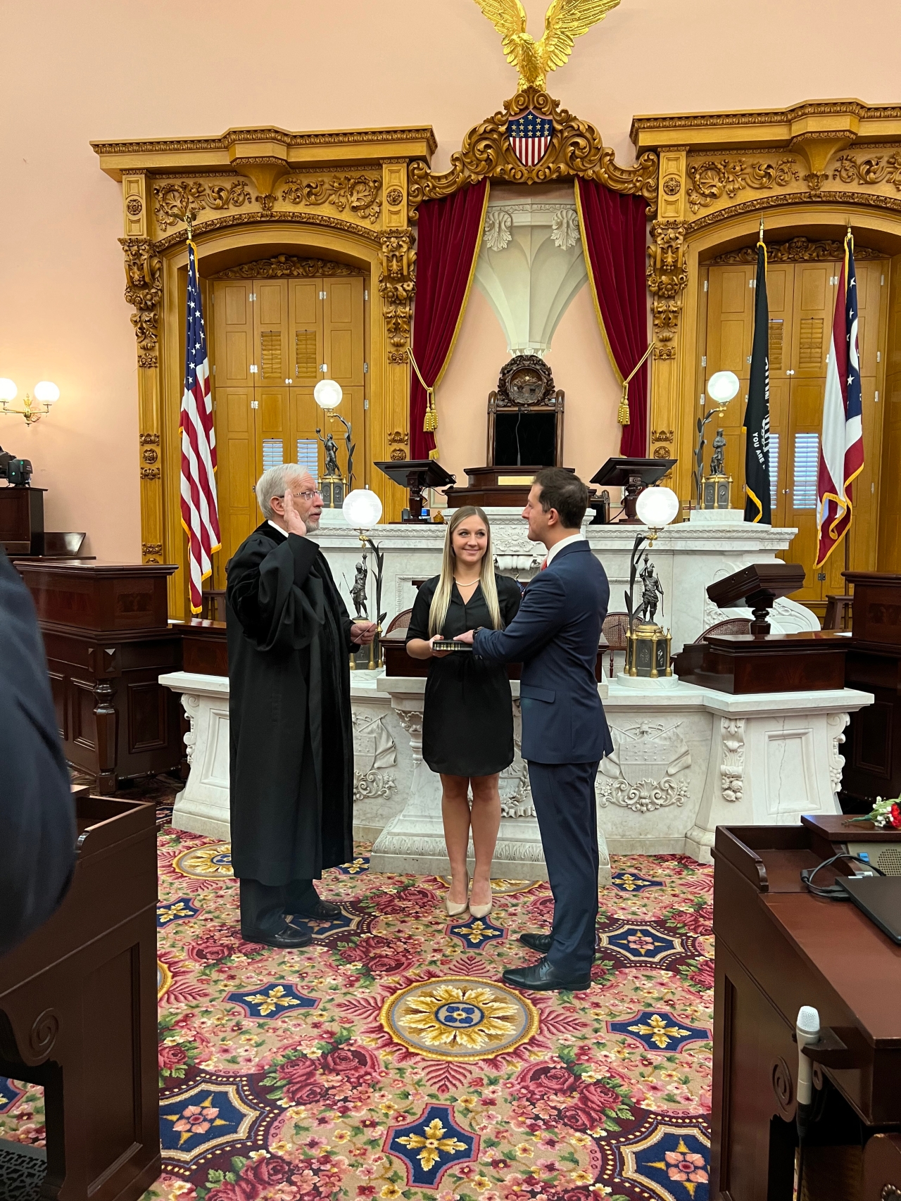
<svg viewBox="0 0 901 1201">
<path fill-rule="evenodd" d="M 0 958 L 0 1075 L 42 1085 L 42 1197 L 137 1201 L 160 1175 L 156 811 L 76 797 L 56 913 Z"/>
</svg>

